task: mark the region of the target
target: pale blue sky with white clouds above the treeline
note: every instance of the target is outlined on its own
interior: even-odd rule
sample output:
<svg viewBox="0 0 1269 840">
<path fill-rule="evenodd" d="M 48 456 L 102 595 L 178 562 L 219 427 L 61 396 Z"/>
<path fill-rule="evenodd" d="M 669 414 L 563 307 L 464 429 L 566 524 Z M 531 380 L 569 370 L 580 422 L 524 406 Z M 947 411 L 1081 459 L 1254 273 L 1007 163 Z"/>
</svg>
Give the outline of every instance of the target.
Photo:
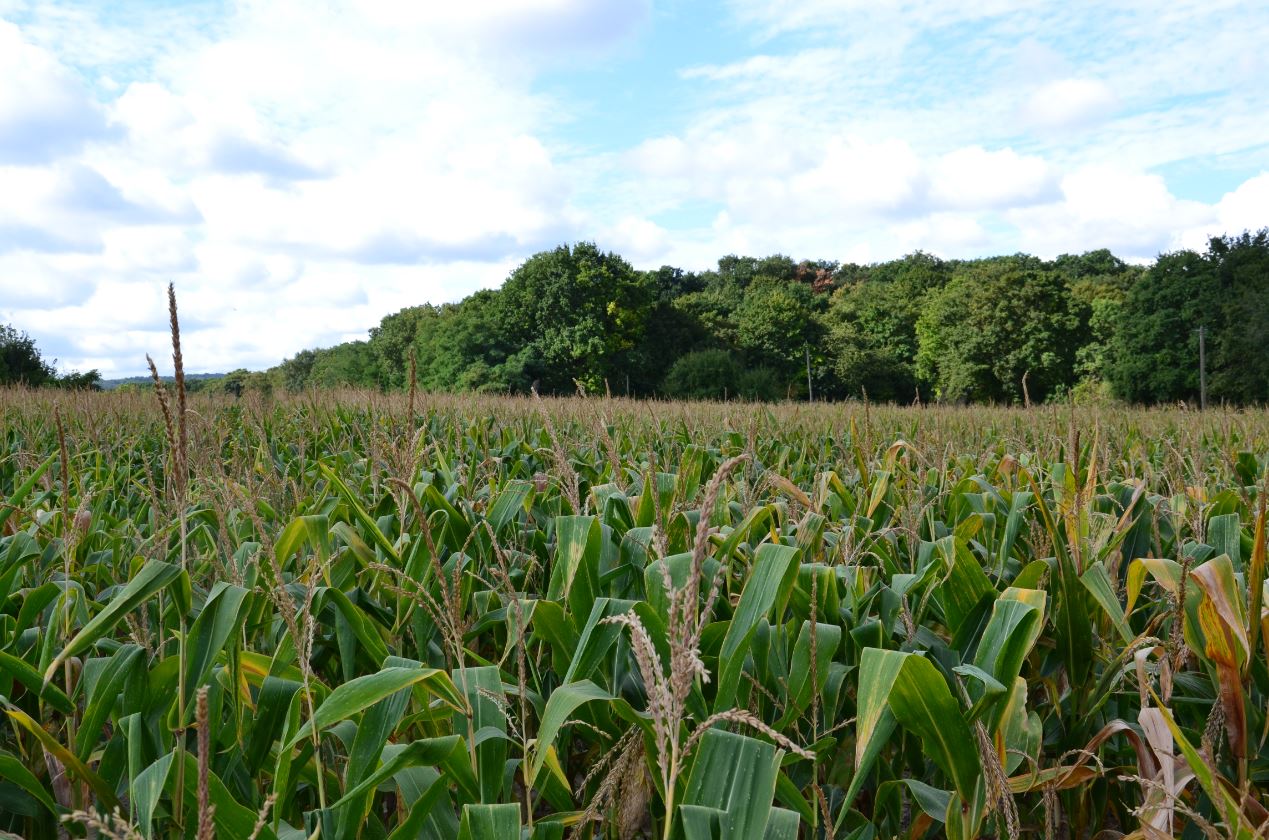
<svg viewBox="0 0 1269 840">
<path fill-rule="evenodd" d="M 169 282 L 220 372 L 580 240 L 1145 261 L 1269 225 L 1266 42 L 1228 0 L 0 0 L 0 324 L 110 378 Z"/>
</svg>

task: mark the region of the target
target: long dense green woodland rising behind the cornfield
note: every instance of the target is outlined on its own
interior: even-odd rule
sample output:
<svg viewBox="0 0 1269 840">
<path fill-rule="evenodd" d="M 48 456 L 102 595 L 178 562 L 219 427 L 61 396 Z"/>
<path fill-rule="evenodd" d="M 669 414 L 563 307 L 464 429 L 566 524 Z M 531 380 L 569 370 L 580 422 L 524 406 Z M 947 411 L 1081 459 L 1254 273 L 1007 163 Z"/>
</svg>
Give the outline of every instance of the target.
<svg viewBox="0 0 1269 840">
<path fill-rule="evenodd" d="M 500 289 L 401 310 L 368 340 L 202 387 L 681 398 L 1269 401 L 1269 228 L 1131 265 L 1108 250 L 872 265 L 725 256 L 636 270 L 591 242 Z"/>
</svg>

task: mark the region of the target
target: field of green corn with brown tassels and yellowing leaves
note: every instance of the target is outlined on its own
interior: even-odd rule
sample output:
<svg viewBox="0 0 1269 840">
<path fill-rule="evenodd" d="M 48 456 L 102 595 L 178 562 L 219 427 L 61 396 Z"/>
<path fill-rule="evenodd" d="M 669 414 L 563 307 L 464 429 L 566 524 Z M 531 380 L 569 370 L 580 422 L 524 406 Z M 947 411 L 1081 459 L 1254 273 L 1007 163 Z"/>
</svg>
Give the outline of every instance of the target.
<svg viewBox="0 0 1269 840">
<path fill-rule="evenodd" d="M 1269 831 L 1264 411 L 0 412 L 15 836 Z"/>
</svg>

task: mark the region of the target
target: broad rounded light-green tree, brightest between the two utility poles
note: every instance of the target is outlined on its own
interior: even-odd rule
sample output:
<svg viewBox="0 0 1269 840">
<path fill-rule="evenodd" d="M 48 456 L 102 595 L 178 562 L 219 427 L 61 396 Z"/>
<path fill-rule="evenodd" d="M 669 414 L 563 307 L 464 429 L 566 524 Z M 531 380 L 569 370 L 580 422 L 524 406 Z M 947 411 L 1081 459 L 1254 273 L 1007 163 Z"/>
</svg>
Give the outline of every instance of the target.
<svg viewBox="0 0 1269 840">
<path fill-rule="evenodd" d="M 1072 313 L 1061 274 L 1009 256 L 961 264 L 916 324 L 917 374 L 942 400 L 1042 401 L 1075 383 Z"/>
</svg>

